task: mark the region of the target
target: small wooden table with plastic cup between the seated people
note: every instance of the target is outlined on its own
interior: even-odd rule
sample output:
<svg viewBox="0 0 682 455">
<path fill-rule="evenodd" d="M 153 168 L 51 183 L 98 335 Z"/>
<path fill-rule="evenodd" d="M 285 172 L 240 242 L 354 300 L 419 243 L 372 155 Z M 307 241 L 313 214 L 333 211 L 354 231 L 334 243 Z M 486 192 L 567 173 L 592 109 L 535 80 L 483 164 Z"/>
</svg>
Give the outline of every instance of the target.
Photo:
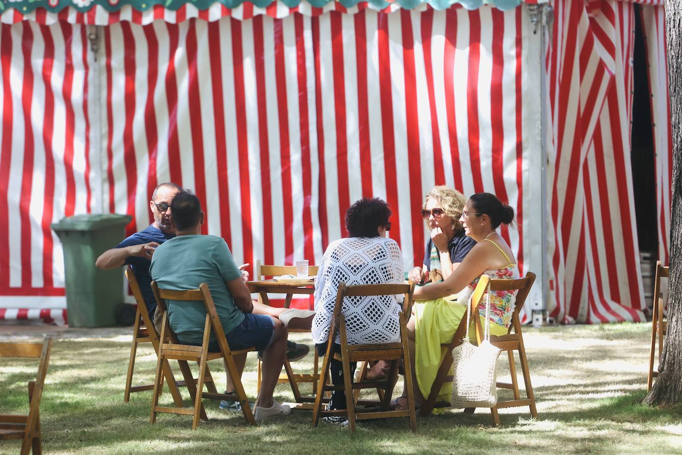
<svg viewBox="0 0 682 455">
<path fill-rule="evenodd" d="M 291 305 L 291 299 L 294 294 L 299 295 L 312 295 L 315 292 L 315 286 L 313 280 L 306 280 L 305 282 L 286 282 L 286 281 L 276 281 L 276 280 L 260 280 L 260 281 L 249 281 L 246 283 L 249 290 L 252 293 L 258 294 L 261 303 L 271 306 L 270 299 L 268 297 L 269 293 L 272 294 L 285 294 L 284 308 L 289 308 Z M 288 329 L 288 332 L 306 332 L 310 333 L 308 329 Z M 315 401 L 314 395 L 303 396 L 299 390 L 300 383 L 312 383 L 313 392 L 316 390 L 316 385 L 318 381 L 318 355 L 315 348 L 314 351 L 315 361 L 314 361 L 314 374 L 312 375 L 301 375 L 294 373 L 291 368 L 291 364 L 288 359 L 284 357 L 284 370 L 286 375 L 280 375 L 279 382 L 288 382 L 291 385 L 291 391 L 294 394 L 294 403 L 287 403 L 291 406 L 291 409 L 298 410 L 312 410 L 312 403 Z M 261 362 L 258 362 L 258 390 L 261 389 Z"/>
</svg>

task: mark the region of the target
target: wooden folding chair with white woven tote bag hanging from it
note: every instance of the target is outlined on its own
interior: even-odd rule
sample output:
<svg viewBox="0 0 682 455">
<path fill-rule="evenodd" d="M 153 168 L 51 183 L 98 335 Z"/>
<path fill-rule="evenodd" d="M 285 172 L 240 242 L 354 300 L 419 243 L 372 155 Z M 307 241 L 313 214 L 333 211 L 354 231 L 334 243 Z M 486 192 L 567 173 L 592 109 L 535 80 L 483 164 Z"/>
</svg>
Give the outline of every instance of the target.
<svg viewBox="0 0 682 455">
<path fill-rule="evenodd" d="M 481 327 L 481 318 L 479 317 L 478 305 L 481 303 L 486 290 L 488 289 L 488 282 L 490 282 L 491 291 L 518 291 L 516 293 L 516 304 L 514 306 L 514 314 L 511 316 L 511 325 L 509 325 L 509 331 L 507 335 L 503 336 L 490 336 L 490 344 L 498 347 L 502 351 L 506 351 L 509 357 L 509 370 L 511 372 L 511 383 L 498 382 L 497 387 L 503 389 L 510 389 L 514 392 L 513 400 L 498 401 L 495 407 L 490 409 L 492 414 L 492 422 L 494 425 L 500 424 L 500 419 L 498 415 L 498 409 L 508 408 L 508 407 L 519 407 L 528 406 L 531 412 L 531 416 L 537 417 L 537 409 L 535 408 L 535 396 L 533 395 L 533 387 L 531 385 L 531 373 L 528 369 L 528 359 L 526 357 L 526 349 L 523 344 L 523 334 L 521 331 L 521 322 L 518 317 L 521 308 L 523 308 L 524 302 L 528 297 L 528 293 L 531 291 L 533 282 L 535 282 L 535 274 L 529 271 L 524 278 L 518 278 L 516 280 L 490 280 L 488 276 L 481 276 L 476 289 L 473 291 L 471 297 L 471 319 L 472 323 L 476 327 L 476 337 L 477 341 L 480 343 L 483 340 L 483 329 Z M 512 330 L 514 333 L 512 333 Z M 449 402 L 436 402 L 443 383 L 451 382 L 452 376 L 450 374 L 452 367 L 452 356 L 449 355 L 454 347 L 459 346 L 462 343 L 462 338 L 466 333 L 466 319 L 462 319 L 460 325 L 452 337 L 449 344 L 441 344 L 441 347 L 445 349 L 443 359 L 441 360 L 441 366 L 436 374 L 436 379 L 431 386 L 431 392 L 428 398 L 421 404 L 421 412 L 419 415 L 427 416 L 431 413 L 434 407 L 447 407 Z M 523 380 L 526 385 L 527 398 L 521 398 L 518 381 L 516 378 L 516 364 L 514 362 L 514 351 L 518 351 L 518 356 L 521 362 L 521 371 L 523 374 Z M 467 408 L 464 410 L 466 413 L 473 413 L 473 408 Z"/>
</svg>

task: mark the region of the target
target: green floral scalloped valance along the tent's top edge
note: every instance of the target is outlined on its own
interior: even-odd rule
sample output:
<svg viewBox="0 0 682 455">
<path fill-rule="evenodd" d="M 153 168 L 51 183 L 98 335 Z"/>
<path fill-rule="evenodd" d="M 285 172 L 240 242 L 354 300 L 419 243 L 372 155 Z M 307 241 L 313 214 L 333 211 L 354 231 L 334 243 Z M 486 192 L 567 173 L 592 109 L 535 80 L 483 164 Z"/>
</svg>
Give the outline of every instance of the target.
<svg viewBox="0 0 682 455">
<path fill-rule="evenodd" d="M 183 5 L 193 5 L 198 10 L 207 10 L 214 3 L 222 3 L 225 8 L 233 9 L 242 3 L 252 3 L 258 8 L 267 8 L 276 0 L 1 0 L 0 11 L 10 8 L 18 10 L 21 14 L 33 12 L 36 8 L 44 8 L 48 12 L 60 12 L 64 8 L 74 8 L 78 12 L 87 12 L 96 6 L 100 6 L 110 12 L 118 11 L 125 5 L 130 5 L 138 11 L 149 10 L 159 5 L 168 10 L 178 10 Z M 289 8 L 297 7 L 301 0 L 281 0 Z M 428 3 L 434 10 L 445 10 L 456 3 L 467 10 L 475 10 L 482 5 L 492 5 L 499 10 L 511 10 L 522 3 L 522 0 L 305 0 L 314 8 L 323 8 L 328 3 L 337 1 L 344 8 L 352 8 L 358 3 L 368 3 L 375 10 L 383 10 L 390 5 L 399 5 L 400 8 L 412 10 L 419 5 Z M 542 3 L 543 0 L 523 0 L 524 3 Z"/>
</svg>

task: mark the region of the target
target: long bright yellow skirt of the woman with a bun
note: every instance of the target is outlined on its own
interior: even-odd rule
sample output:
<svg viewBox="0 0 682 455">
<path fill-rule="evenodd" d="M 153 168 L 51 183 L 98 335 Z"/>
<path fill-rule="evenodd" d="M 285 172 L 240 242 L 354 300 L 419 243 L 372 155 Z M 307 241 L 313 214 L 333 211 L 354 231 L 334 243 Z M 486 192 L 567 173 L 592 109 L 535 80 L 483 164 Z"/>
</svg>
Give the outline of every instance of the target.
<svg viewBox="0 0 682 455">
<path fill-rule="evenodd" d="M 441 344 L 452 340 L 460 321 L 466 317 L 466 303 L 457 302 L 457 295 L 445 298 L 416 302 L 415 313 L 415 371 L 417 385 L 424 398 L 431 393 L 431 386 L 436 379 L 438 368 L 445 355 L 451 355 Z M 485 327 L 486 318 L 481 316 L 481 324 Z M 490 323 L 490 334 L 501 336 L 507 334 L 507 327 Z M 469 339 L 476 340 L 474 325 L 469 326 Z M 438 396 L 439 400 L 450 400 L 452 383 L 444 383 Z"/>
</svg>

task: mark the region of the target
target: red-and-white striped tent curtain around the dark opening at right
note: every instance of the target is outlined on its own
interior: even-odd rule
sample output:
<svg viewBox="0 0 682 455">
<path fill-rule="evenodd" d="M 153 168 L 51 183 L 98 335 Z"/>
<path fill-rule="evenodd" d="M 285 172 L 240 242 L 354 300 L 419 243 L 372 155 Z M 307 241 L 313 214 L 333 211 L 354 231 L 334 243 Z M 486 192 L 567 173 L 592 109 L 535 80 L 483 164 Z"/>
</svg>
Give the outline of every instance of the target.
<svg viewBox="0 0 682 455">
<path fill-rule="evenodd" d="M 550 246 L 550 316 L 562 323 L 644 321 L 629 160 L 632 3 L 554 3 L 554 41 L 548 50 L 555 233 Z M 643 11 L 658 9 L 662 7 L 651 5 Z M 664 47 L 650 53 L 649 61 L 652 55 L 665 61 Z M 668 106 L 667 93 L 662 98 L 659 113 Z M 663 127 L 655 132 L 662 148 L 667 147 L 668 131 Z M 664 150 L 664 156 L 669 153 Z M 662 162 L 659 169 L 667 169 L 669 159 Z M 666 229 L 663 221 L 670 216 L 669 202 L 664 205 L 670 181 L 663 174 L 659 171 L 657 176 L 661 236 Z M 661 248 L 661 257 L 666 257 L 666 242 Z"/>
</svg>

